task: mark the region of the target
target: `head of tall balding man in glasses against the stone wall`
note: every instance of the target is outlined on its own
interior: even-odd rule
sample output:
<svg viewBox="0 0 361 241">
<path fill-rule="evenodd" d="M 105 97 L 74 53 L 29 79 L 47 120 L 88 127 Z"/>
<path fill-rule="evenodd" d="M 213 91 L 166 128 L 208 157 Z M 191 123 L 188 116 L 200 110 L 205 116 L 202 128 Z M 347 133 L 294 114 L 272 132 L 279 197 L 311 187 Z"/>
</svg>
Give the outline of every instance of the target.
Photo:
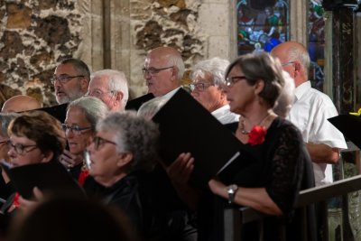
<svg viewBox="0 0 361 241">
<path fill-rule="evenodd" d="M 145 58 L 143 76 L 148 93 L 155 97 L 171 97 L 180 88 L 183 73 L 180 52 L 171 47 L 153 49 Z"/>
</svg>

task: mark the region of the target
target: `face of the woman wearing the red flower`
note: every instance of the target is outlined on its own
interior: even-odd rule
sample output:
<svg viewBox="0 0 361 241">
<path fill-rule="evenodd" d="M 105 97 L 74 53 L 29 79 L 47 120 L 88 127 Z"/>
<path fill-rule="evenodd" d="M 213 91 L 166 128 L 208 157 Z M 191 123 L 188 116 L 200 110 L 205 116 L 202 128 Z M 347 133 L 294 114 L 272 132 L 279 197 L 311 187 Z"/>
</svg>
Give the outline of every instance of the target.
<svg viewBox="0 0 361 241">
<path fill-rule="evenodd" d="M 242 115 L 256 99 L 255 88 L 242 78 L 244 76 L 243 71 L 235 66 L 227 76 L 234 81 L 225 87 L 230 110 L 239 115 Z"/>
</svg>

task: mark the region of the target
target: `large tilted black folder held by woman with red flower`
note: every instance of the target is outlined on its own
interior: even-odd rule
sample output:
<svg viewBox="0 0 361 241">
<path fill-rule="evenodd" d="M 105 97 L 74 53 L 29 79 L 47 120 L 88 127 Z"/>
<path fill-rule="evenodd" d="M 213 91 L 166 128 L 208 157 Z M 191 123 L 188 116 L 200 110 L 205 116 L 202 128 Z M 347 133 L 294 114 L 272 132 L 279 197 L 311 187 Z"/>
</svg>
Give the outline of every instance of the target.
<svg viewBox="0 0 361 241">
<path fill-rule="evenodd" d="M 207 185 L 240 154 L 236 136 L 182 88 L 153 121 L 161 132 L 162 161 L 169 165 L 180 153 L 191 153 L 195 159 L 191 181 L 196 185 Z"/>
</svg>

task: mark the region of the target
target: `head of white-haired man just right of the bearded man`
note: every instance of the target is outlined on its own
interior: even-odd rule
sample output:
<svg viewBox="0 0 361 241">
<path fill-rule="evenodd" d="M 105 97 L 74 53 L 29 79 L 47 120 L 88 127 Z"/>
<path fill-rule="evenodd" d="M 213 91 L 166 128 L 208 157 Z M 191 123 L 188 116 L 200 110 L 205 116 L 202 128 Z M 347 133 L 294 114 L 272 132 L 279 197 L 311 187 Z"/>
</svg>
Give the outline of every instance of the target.
<svg viewBox="0 0 361 241">
<path fill-rule="evenodd" d="M 124 111 L 128 100 L 128 84 L 124 72 L 98 70 L 92 73 L 88 95 L 99 98 L 110 111 Z"/>
</svg>

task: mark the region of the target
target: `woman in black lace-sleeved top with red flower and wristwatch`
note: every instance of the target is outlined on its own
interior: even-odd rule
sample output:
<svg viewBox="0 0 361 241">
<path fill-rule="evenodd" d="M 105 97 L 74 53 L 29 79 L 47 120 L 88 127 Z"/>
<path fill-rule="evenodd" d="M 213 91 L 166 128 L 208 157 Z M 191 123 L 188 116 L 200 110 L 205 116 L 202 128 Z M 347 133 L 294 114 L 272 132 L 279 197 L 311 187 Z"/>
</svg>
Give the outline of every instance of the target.
<svg viewBox="0 0 361 241">
<path fill-rule="evenodd" d="M 222 175 L 208 182 L 210 192 L 198 203 L 199 240 L 223 239 L 223 209 L 229 203 L 271 215 L 264 219 L 264 238 L 280 240 L 279 227 L 290 224 L 303 162 L 310 162 L 297 128 L 273 113 L 284 86 L 282 66 L 266 53 L 246 54 L 229 65 L 226 76 L 230 110 L 241 116 L 229 126 L 240 141 L 241 155 L 228 168 L 233 173 L 227 182 Z M 182 153 L 168 169 L 171 177 L 189 176 L 193 162 L 190 153 Z M 255 226 L 243 229 L 245 240 L 258 240 Z"/>
</svg>

